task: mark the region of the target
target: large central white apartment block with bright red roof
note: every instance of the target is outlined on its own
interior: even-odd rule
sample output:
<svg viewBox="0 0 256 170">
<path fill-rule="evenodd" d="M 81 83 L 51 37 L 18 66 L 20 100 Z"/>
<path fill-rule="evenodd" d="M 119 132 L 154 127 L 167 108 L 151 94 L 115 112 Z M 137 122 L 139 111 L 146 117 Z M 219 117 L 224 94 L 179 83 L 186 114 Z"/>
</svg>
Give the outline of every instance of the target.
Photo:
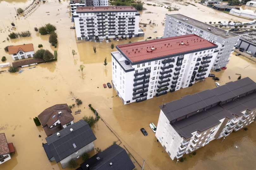
<svg viewBox="0 0 256 170">
<path fill-rule="evenodd" d="M 116 46 L 112 83 L 124 104 L 192 86 L 208 77 L 218 50 L 195 34 Z"/>
</svg>

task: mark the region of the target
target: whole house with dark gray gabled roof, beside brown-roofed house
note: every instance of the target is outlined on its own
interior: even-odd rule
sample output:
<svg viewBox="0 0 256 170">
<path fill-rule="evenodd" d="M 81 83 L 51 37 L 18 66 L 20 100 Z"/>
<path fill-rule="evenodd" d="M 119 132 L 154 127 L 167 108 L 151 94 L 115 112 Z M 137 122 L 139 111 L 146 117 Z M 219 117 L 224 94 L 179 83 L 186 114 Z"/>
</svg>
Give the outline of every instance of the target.
<svg viewBox="0 0 256 170">
<path fill-rule="evenodd" d="M 60 162 L 65 168 L 71 159 L 78 159 L 83 153 L 92 151 L 96 137 L 88 123 L 79 120 L 45 139 L 43 147 L 49 161 Z"/>
</svg>

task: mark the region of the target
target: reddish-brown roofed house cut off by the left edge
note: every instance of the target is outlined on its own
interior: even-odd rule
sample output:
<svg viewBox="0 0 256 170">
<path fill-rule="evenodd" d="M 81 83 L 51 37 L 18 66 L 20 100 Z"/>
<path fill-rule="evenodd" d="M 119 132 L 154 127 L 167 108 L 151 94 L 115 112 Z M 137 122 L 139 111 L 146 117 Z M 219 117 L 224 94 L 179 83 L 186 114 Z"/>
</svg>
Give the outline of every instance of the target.
<svg viewBox="0 0 256 170">
<path fill-rule="evenodd" d="M 15 149 L 12 143 L 7 143 L 4 133 L 0 133 L 0 164 L 11 159 L 10 153 L 14 153 Z"/>
</svg>

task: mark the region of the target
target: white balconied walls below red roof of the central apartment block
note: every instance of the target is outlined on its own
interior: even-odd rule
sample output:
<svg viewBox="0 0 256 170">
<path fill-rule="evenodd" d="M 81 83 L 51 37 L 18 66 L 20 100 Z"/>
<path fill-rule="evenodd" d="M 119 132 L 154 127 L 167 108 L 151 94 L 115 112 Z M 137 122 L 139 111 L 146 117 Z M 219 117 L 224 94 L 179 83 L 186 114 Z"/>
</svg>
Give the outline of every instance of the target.
<svg viewBox="0 0 256 170">
<path fill-rule="evenodd" d="M 126 65 L 119 52 L 112 55 L 112 83 L 124 104 L 140 102 L 180 90 L 208 77 L 217 51 L 197 52 Z"/>
</svg>

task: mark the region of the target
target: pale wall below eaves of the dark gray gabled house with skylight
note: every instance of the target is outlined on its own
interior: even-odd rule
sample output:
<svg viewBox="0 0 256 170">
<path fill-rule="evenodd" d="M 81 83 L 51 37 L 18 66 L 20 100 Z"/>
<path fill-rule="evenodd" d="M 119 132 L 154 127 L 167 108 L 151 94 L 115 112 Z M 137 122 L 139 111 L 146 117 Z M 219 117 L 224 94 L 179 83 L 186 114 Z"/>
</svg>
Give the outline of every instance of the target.
<svg viewBox="0 0 256 170">
<path fill-rule="evenodd" d="M 68 163 L 71 159 L 79 159 L 83 153 L 85 152 L 90 152 L 94 149 L 94 144 L 91 142 L 90 144 L 86 145 L 85 147 L 79 149 L 77 152 L 69 155 L 68 157 L 64 158 L 63 160 L 60 161 L 61 167 L 65 168 L 68 166 Z"/>
</svg>

